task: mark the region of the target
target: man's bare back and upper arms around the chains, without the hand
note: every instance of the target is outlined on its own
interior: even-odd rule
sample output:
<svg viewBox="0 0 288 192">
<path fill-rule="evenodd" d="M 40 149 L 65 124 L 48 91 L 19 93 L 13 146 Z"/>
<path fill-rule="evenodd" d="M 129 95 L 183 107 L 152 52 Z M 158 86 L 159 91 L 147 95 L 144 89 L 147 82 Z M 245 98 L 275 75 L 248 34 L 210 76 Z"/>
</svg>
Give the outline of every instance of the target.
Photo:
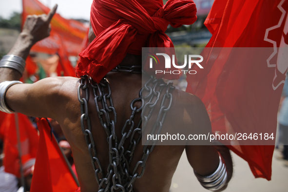
<svg viewBox="0 0 288 192">
<path fill-rule="evenodd" d="M 117 113 L 118 122 L 115 128 L 119 138 L 125 121 L 131 115 L 130 103 L 138 97 L 142 86 L 142 77 L 141 74 L 111 72 L 107 74 L 107 80 L 111 86 L 112 98 Z M 98 185 L 80 126 L 80 103 L 77 98 L 79 84 L 80 80 L 78 78 L 52 77 L 40 80 L 32 85 L 14 85 L 7 92 L 6 102 L 12 110 L 19 113 L 51 117 L 59 122 L 65 137 L 71 145 L 81 191 L 92 192 L 98 189 Z M 92 134 L 96 144 L 97 156 L 104 172 L 107 173 L 106 169 L 109 165 L 107 134 L 102 128 L 97 115 L 92 88 L 89 87 L 89 89 L 89 116 Z M 138 104 L 141 105 L 141 103 Z M 49 109 L 47 110 L 43 110 L 44 107 L 39 109 L 39 106 L 48 105 Z M 191 125 L 189 129 L 191 129 L 192 134 L 198 133 L 197 129 L 200 127 L 203 132 L 209 131 L 209 129 L 211 131 L 206 109 L 196 96 L 174 90 L 171 111 L 188 115 L 177 115 L 175 118 L 174 113 L 168 113 L 166 118 L 175 118 L 177 121 L 173 121 L 173 125 L 164 122 L 163 127 L 169 127 L 169 130 L 173 130 L 176 127 Z M 39 113 L 41 116 L 39 116 Z M 135 119 L 139 118 L 140 115 L 135 116 Z M 216 170 L 219 157 L 213 146 L 155 146 L 147 160 L 143 177 L 136 179 L 134 183 L 134 192 L 168 192 L 173 173 L 185 148 L 188 159 L 197 173 L 207 175 Z M 131 169 L 134 168 L 135 163 L 141 159 L 142 155 L 143 146 L 139 143 L 134 152 L 134 158 L 130 165 Z M 193 173 L 191 173 L 192 175 Z"/>
</svg>

